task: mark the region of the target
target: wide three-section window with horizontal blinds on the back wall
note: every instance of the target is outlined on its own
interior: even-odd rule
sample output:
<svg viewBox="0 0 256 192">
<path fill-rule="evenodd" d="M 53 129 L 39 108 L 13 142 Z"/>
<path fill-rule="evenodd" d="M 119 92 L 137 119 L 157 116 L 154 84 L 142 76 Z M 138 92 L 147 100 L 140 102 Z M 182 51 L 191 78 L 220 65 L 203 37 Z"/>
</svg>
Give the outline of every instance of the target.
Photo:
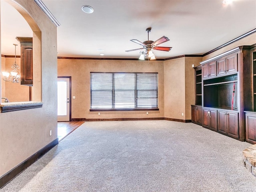
<svg viewBox="0 0 256 192">
<path fill-rule="evenodd" d="M 90 110 L 158 109 L 157 73 L 90 73 Z"/>
</svg>

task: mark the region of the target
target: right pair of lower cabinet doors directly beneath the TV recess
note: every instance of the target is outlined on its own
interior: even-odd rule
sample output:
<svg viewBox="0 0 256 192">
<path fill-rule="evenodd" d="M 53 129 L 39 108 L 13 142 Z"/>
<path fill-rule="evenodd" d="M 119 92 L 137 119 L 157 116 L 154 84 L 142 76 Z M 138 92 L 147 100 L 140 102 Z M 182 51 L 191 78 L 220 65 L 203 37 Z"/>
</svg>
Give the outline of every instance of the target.
<svg viewBox="0 0 256 192">
<path fill-rule="evenodd" d="M 238 138 L 238 112 L 218 110 L 218 132 Z"/>
</svg>

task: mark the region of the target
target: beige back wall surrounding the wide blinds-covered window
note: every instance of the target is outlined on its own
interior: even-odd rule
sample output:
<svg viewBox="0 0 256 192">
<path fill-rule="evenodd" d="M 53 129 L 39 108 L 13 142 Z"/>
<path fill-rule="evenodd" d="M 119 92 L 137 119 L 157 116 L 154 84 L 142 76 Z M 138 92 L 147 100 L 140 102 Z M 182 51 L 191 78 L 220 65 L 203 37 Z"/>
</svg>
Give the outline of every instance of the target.
<svg viewBox="0 0 256 192">
<path fill-rule="evenodd" d="M 158 72 L 159 111 L 90 112 L 90 72 Z M 72 77 L 72 118 L 164 117 L 163 61 L 58 59 L 58 76 Z"/>
</svg>

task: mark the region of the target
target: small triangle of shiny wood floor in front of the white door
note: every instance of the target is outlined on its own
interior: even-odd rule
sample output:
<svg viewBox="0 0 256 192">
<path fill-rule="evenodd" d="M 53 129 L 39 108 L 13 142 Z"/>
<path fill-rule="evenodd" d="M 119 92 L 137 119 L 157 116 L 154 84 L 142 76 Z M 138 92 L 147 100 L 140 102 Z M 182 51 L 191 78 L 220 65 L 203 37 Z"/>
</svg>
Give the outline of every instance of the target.
<svg viewBox="0 0 256 192">
<path fill-rule="evenodd" d="M 59 142 L 64 139 L 68 134 L 82 125 L 85 121 L 65 121 L 58 122 L 58 138 Z"/>
</svg>

